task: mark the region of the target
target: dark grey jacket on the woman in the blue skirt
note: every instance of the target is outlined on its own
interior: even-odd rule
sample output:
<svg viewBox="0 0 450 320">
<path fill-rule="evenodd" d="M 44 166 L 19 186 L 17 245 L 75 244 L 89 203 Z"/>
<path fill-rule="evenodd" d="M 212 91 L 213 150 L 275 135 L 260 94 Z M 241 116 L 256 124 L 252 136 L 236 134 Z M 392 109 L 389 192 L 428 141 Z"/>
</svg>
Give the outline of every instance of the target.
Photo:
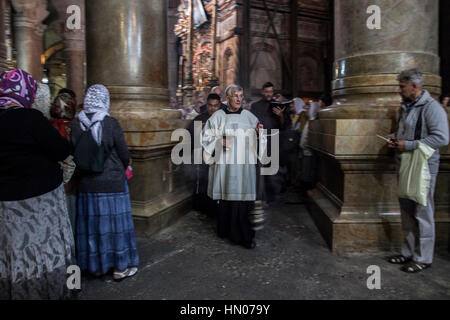
<svg viewBox="0 0 450 320">
<path fill-rule="evenodd" d="M 88 115 L 89 116 L 89 115 Z M 80 121 L 72 121 L 72 144 L 77 143 L 82 130 Z M 115 193 L 125 191 L 125 170 L 130 161 L 130 153 L 119 121 L 112 117 L 103 119 L 102 142 L 106 147 L 107 159 L 100 174 L 83 174 L 78 191 L 84 193 Z"/>
</svg>

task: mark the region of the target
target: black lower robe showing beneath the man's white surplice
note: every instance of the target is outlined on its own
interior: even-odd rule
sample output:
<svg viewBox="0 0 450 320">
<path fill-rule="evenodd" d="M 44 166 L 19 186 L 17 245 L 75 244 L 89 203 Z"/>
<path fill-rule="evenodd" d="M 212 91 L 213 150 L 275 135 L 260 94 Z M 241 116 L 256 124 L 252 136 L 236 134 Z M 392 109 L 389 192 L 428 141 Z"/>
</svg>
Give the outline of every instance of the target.
<svg viewBox="0 0 450 320">
<path fill-rule="evenodd" d="M 250 212 L 254 201 L 219 201 L 217 233 L 221 238 L 229 238 L 233 243 L 249 246 L 255 237 L 250 223 Z"/>
</svg>

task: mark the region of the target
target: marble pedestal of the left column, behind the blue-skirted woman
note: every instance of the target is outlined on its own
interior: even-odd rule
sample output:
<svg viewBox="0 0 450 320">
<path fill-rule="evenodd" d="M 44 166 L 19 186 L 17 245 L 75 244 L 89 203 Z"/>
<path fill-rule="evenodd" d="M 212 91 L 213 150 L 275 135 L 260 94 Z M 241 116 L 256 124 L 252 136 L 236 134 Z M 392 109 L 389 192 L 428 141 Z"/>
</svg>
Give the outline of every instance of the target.
<svg viewBox="0 0 450 320">
<path fill-rule="evenodd" d="M 172 132 L 189 121 L 180 120 L 179 111 L 164 109 L 119 108 L 112 115 L 121 123 L 133 161 L 129 185 L 136 233 L 152 235 L 191 208 L 192 188 L 183 167 L 172 163 L 177 142 L 170 141 Z"/>
</svg>

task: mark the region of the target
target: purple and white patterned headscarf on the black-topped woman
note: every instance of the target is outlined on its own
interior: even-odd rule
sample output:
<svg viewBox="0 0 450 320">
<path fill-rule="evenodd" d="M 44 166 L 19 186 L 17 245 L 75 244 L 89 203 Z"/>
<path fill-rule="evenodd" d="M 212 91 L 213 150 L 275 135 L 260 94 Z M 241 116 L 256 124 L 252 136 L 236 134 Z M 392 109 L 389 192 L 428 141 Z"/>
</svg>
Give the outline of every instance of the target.
<svg viewBox="0 0 450 320">
<path fill-rule="evenodd" d="M 31 108 L 36 89 L 36 80 L 27 72 L 21 69 L 3 72 L 0 76 L 0 109 L 8 109 L 12 104 Z"/>
</svg>

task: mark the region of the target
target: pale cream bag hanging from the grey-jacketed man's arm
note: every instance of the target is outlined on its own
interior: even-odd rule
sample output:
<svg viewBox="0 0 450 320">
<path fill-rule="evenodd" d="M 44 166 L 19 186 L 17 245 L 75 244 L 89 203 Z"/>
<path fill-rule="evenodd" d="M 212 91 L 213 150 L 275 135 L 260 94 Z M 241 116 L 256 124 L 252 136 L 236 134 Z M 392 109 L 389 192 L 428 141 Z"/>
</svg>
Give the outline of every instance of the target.
<svg viewBox="0 0 450 320">
<path fill-rule="evenodd" d="M 428 159 L 434 149 L 419 141 L 419 147 L 414 151 L 401 154 L 401 164 L 398 180 L 398 196 L 413 200 L 423 206 L 427 205 L 430 189 L 430 170 Z"/>
</svg>

